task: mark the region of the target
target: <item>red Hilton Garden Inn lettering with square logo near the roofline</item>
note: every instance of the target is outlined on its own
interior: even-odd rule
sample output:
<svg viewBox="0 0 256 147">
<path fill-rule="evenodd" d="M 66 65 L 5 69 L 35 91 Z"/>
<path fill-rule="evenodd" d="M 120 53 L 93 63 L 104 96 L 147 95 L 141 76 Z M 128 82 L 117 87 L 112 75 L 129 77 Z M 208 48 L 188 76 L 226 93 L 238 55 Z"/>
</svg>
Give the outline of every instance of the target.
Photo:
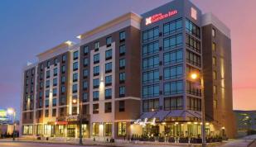
<svg viewBox="0 0 256 147">
<path fill-rule="evenodd" d="M 178 13 L 176 10 L 167 12 L 166 14 L 158 13 L 153 15 L 152 17 L 147 17 L 146 18 L 146 25 L 152 24 L 153 22 L 161 21 L 167 17 L 171 17 Z"/>
</svg>

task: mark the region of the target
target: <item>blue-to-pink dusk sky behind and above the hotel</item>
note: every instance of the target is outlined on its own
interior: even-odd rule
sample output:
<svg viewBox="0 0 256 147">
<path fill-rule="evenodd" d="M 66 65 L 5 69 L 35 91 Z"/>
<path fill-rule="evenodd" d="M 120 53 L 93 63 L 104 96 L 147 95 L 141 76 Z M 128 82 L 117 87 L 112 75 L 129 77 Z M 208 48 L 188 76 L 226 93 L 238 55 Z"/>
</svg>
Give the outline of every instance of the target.
<svg viewBox="0 0 256 147">
<path fill-rule="evenodd" d="M 1 0 L 0 108 L 20 111 L 22 67 L 36 55 L 126 12 L 171 0 Z M 231 30 L 234 109 L 256 110 L 256 1 L 191 0 Z"/>
</svg>

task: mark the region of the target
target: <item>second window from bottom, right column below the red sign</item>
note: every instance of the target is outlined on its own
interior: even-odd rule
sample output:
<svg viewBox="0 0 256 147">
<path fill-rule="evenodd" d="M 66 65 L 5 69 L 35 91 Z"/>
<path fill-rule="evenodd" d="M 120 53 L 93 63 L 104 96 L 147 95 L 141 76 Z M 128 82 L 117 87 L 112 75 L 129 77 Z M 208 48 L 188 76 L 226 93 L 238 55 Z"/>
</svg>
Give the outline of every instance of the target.
<svg viewBox="0 0 256 147">
<path fill-rule="evenodd" d="M 174 81 L 171 83 L 164 83 L 164 95 L 180 94 L 183 92 L 183 82 Z"/>
</svg>

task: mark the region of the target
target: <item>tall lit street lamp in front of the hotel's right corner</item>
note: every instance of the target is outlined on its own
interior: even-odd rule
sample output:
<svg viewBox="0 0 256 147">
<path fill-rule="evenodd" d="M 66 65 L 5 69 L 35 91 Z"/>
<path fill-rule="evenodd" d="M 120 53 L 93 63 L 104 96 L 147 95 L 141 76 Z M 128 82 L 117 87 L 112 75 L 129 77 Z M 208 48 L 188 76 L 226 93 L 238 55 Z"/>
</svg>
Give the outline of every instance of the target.
<svg viewBox="0 0 256 147">
<path fill-rule="evenodd" d="M 199 74 L 197 72 L 191 72 L 190 78 L 192 80 L 196 80 L 200 78 L 200 87 L 201 87 L 201 120 L 202 120 L 202 128 L 201 128 L 201 134 L 202 134 L 202 147 L 206 147 L 206 140 L 205 140 L 205 94 L 204 94 L 204 77 L 203 74 Z"/>
</svg>

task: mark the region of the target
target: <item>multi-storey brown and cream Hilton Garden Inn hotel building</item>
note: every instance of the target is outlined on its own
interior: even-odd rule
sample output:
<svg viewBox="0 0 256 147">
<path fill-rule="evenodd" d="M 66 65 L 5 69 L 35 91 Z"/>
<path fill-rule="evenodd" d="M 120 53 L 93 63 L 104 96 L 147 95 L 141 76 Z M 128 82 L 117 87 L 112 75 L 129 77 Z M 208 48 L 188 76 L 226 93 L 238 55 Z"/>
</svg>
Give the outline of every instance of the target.
<svg viewBox="0 0 256 147">
<path fill-rule="evenodd" d="M 175 0 L 78 38 L 24 68 L 22 135 L 198 136 L 205 98 L 206 135 L 234 137 L 230 32 L 214 15 Z"/>
</svg>

